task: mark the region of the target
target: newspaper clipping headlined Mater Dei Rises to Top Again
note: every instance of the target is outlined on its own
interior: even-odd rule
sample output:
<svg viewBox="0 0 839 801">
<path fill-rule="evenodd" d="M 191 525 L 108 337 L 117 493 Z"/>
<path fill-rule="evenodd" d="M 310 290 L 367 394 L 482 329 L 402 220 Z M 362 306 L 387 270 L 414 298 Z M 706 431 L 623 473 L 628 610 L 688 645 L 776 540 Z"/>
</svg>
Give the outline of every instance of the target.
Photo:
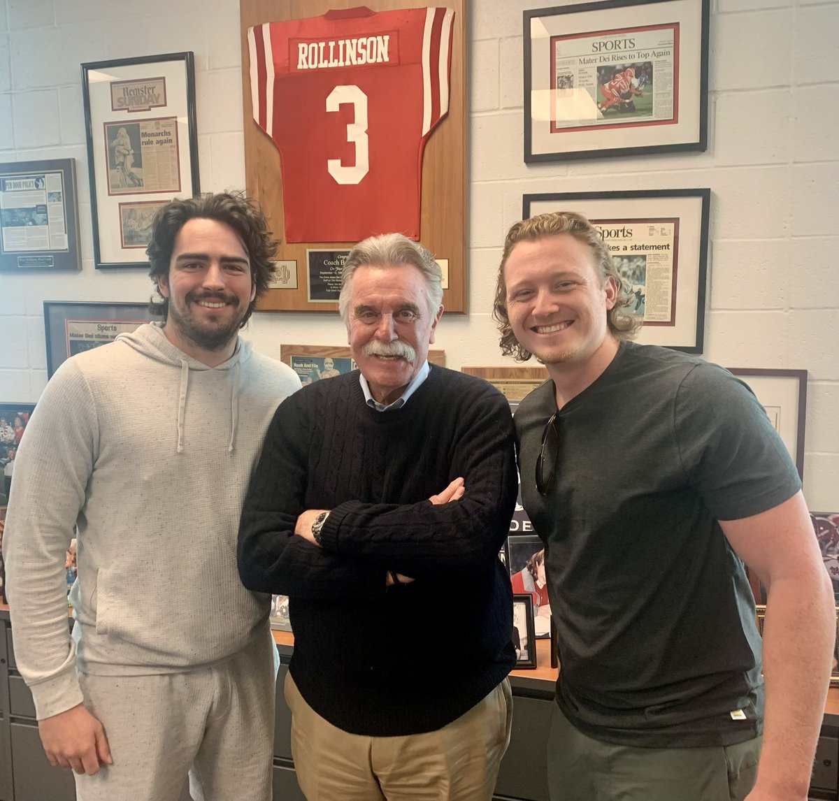
<svg viewBox="0 0 839 801">
<path fill-rule="evenodd" d="M 554 36 L 551 133 L 679 121 L 679 24 Z"/>
</svg>

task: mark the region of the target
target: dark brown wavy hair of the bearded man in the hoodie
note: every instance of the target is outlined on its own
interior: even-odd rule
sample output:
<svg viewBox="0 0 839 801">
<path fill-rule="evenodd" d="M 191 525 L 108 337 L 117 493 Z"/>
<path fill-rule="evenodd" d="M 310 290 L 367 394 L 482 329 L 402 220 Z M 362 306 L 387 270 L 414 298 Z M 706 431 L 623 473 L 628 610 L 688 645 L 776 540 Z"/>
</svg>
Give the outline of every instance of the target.
<svg viewBox="0 0 839 801">
<path fill-rule="evenodd" d="M 149 278 L 158 285 L 159 279 L 169 276 L 169 262 L 175 250 L 175 237 L 187 222 L 195 219 L 216 220 L 230 226 L 242 240 L 251 263 L 251 280 L 257 288 L 248 311 L 245 313 L 240 328 L 248 322 L 268 283 L 274 274 L 271 259 L 277 252 L 277 241 L 268 231 L 268 222 L 262 210 L 254 200 L 249 200 L 242 192 L 220 192 L 217 195 L 198 195 L 197 197 L 178 198 L 164 205 L 152 221 L 152 238 L 146 255 L 149 257 Z M 149 312 L 162 316 L 164 322 L 169 315 L 169 298 L 159 295 L 159 300 L 152 295 L 149 299 Z"/>
</svg>

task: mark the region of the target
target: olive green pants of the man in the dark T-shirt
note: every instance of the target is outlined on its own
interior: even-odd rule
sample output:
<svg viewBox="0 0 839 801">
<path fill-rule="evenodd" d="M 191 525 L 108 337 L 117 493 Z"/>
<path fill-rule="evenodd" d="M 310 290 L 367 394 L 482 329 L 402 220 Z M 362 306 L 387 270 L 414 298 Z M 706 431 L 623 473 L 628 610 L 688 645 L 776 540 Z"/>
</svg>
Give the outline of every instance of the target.
<svg viewBox="0 0 839 801">
<path fill-rule="evenodd" d="M 548 736 L 550 801 L 742 801 L 763 737 L 733 746 L 638 748 L 594 740 L 554 704 Z"/>
</svg>

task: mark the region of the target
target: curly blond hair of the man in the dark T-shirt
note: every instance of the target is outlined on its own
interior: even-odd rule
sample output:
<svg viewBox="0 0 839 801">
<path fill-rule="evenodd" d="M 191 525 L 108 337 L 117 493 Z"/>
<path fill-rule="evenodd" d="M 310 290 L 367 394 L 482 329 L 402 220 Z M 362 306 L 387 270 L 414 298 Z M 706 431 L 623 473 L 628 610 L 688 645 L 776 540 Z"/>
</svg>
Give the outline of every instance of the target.
<svg viewBox="0 0 839 801">
<path fill-rule="evenodd" d="M 504 252 L 501 266 L 498 268 L 498 283 L 495 285 L 495 304 L 492 307 L 492 317 L 498 322 L 501 332 L 501 352 L 504 356 L 513 356 L 516 361 L 527 361 L 533 354 L 525 350 L 513 334 L 510 320 L 507 316 L 507 284 L 504 283 L 504 265 L 507 263 L 513 247 L 519 242 L 536 242 L 545 237 L 557 234 L 571 234 L 578 242 L 582 242 L 591 250 L 594 266 L 602 283 L 608 278 L 614 278 L 618 285 L 618 296 L 612 309 L 607 311 L 607 325 L 609 333 L 618 340 L 630 339 L 638 333 L 644 322 L 638 315 L 626 311 L 634 302 L 628 292 L 628 286 L 621 280 L 618 268 L 612 262 L 612 254 L 603 243 L 600 234 L 591 222 L 576 211 L 554 211 L 550 214 L 540 214 L 529 220 L 517 222 L 507 234 L 504 241 Z"/>
</svg>

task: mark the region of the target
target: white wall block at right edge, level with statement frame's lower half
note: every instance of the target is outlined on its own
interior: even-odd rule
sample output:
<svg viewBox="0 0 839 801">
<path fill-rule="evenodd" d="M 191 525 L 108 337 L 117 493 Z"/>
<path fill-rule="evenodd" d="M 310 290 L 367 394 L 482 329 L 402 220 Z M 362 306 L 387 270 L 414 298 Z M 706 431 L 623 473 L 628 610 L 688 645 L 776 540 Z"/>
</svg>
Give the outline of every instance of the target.
<svg viewBox="0 0 839 801">
<path fill-rule="evenodd" d="M 789 304 L 793 308 L 839 309 L 836 252 L 839 252 L 839 237 L 791 240 Z"/>
</svg>

